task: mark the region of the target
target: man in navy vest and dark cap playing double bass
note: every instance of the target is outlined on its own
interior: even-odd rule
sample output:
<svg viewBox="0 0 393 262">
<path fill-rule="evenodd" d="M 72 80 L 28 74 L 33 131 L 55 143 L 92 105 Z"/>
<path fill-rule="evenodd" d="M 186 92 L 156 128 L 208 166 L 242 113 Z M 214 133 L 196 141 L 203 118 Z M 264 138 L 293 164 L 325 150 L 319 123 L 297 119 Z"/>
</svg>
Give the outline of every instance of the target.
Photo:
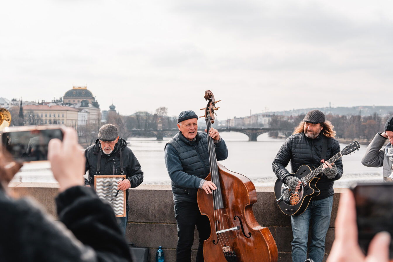
<svg viewBox="0 0 393 262">
<path fill-rule="evenodd" d="M 194 242 L 195 225 L 199 233 L 196 261 L 202 262 L 203 243 L 210 236 L 207 216 L 202 216 L 196 201 L 198 189 L 211 194 L 216 185 L 205 180 L 210 172 L 208 134 L 198 132 L 198 116 L 188 110 L 178 117 L 179 133 L 165 145 L 165 165 L 172 180 L 174 213 L 177 222 L 178 242 L 176 261 L 191 261 L 191 246 Z M 219 132 L 211 128 L 217 160 L 228 157 L 228 149 Z"/>
</svg>

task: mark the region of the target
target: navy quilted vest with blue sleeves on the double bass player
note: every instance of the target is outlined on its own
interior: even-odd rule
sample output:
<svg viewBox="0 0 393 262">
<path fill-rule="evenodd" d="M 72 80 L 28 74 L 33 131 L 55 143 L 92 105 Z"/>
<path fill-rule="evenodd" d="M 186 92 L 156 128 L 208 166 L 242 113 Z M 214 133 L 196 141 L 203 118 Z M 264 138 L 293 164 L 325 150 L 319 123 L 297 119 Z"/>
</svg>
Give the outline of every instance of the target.
<svg viewBox="0 0 393 262">
<path fill-rule="evenodd" d="M 221 138 L 214 143 L 217 160 L 228 157 L 228 149 Z M 196 203 L 200 182 L 210 172 L 208 135 L 198 132 L 195 141 L 189 141 L 181 132 L 165 145 L 165 165 L 171 178 L 175 203 L 187 201 Z"/>
</svg>

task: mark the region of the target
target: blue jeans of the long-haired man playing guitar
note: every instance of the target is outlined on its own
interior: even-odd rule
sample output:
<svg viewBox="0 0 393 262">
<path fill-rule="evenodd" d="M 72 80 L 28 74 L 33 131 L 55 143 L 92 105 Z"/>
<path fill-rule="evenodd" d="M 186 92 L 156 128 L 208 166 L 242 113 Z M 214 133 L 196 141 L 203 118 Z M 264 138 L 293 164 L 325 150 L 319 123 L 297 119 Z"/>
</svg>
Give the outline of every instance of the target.
<svg viewBox="0 0 393 262">
<path fill-rule="evenodd" d="M 307 241 L 309 225 L 311 228 L 311 243 L 309 258 L 314 262 L 322 262 L 325 254 L 325 237 L 330 224 L 333 196 L 320 200 L 311 200 L 306 211 L 299 216 L 291 216 L 292 234 L 292 262 L 304 262 L 307 259 Z"/>
</svg>

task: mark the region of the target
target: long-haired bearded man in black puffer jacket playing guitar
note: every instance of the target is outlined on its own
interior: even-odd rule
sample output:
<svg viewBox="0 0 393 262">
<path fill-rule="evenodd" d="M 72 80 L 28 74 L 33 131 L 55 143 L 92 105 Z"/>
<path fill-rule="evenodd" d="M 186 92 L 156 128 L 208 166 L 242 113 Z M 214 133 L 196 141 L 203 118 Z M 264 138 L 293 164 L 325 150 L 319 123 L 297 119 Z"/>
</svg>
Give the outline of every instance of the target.
<svg viewBox="0 0 393 262">
<path fill-rule="evenodd" d="M 332 124 L 325 121 L 325 115 L 319 110 L 311 110 L 295 128 L 294 134 L 285 140 L 273 161 L 274 173 L 291 192 L 298 191 L 301 182 L 285 169 L 289 161 L 291 161 L 292 173 L 295 173 L 301 165 L 316 168 L 324 163 L 321 179 L 316 184 L 320 194 L 311 199 L 309 206 L 302 214 L 291 216 L 293 262 L 304 262 L 307 258 L 310 220 L 312 232 L 309 258 L 314 262 L 322 262 L 325 253 L 325 237 L 333 204 L 333 183 L 343 174 L 341 158 L 332 165 L 325 162 L 340 152 L 340 145 L 334 139 L 335 134 Z M 325 159 L 321 159 L 323 143 L 326 143 Z"/>
</svg>

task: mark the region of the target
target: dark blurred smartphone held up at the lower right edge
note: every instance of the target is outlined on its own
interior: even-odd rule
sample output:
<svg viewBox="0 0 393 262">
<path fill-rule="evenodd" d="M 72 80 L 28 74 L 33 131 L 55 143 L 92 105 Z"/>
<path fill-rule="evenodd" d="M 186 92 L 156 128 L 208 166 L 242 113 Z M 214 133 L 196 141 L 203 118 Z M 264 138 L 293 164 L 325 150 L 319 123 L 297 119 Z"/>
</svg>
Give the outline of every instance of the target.
<svg viewBox="0 0 393 262">
<path fill-rule="evenodd" d="M 359 183 L 351 189 L 356 203 L 359 246 L 366 254 L 376 233 L 387 231 L 393 236 L 393 183 Z M 389 258 L 393 258 L 392 241 Z"/>
</svg>

